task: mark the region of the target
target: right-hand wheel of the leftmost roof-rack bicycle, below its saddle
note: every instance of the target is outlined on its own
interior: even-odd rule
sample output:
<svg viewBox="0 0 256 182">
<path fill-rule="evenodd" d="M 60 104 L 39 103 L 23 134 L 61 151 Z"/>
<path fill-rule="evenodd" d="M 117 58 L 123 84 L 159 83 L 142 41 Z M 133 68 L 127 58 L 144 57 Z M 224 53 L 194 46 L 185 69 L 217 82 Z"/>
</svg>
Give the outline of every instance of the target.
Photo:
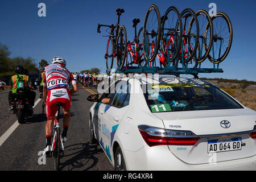
<svg viewBox="0 0 256 182">
<path fill-rule="evenodd" d="M 125 26 L 121 26 L 118 30 L 117 40 L 115 42 L 115 59 L 117 60 L 117 69 L 122 69 L 125 64 L 127 53 L 127 34 Z"/>
</svg>

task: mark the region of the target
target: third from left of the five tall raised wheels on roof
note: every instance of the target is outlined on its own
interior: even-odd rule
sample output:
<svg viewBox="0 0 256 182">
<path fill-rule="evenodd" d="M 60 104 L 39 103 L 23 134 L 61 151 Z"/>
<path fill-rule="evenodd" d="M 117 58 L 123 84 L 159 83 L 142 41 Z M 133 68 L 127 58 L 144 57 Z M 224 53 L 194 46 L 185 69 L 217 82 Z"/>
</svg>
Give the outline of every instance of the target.
<svg viewBox="0 0 256 182">
<path fill-rule="evenodd" d="M 178 54 L 178 57 L 181 61 L 183 60 L 184 63 L 188 63 L 193 59 L 197 51 L 197 46 L 199 42 L 199 23 L 196 17 L 196 13 L 192 9 L 185 9 L 181 12 L 180 15 L 184 27 L 183 40 L 181 42 L 181 51 Z M 193 19 L 195 23 L 192 24 L 191 28 L 188 28 L 190 24 L 189 22 L 191 22 L 191 20 Z M 191 39 L 192 34 L 196 35 L 196 39 Z"/>
</svg>

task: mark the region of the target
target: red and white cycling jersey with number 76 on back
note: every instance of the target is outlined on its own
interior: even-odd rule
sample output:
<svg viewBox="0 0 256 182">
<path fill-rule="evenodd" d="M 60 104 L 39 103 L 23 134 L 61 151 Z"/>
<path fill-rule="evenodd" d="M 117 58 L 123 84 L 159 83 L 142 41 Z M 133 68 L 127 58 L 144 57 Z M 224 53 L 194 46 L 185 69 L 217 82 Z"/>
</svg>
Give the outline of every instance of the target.
<svg viewBox="0 0 256 182">
<path fill-rule="evenodd" d="M 64 65 L 51 64 L 44 69 L 43 85 L 47 86 L 48 90 L 53 88 L 67 88 L 68 84 L 76 84 L 73 75 Z"/>
</svg>

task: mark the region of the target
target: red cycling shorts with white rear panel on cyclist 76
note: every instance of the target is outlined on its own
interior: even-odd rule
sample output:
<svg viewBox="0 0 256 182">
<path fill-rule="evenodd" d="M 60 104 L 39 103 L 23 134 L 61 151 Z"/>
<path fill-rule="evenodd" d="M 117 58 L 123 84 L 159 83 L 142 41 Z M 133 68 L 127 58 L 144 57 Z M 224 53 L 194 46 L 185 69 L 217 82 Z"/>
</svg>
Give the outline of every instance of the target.
<svg viewBox="0 0 256 182">
<path fill-rule="evenodd" d="M 57 102 L 60 102 L 64 110 L 71 107 L 71 94 L 67 88 L 56 88 L 48 90 L 46 98 L 46 116 L 48 119 L 54 119 L 57 113 Z"/>
</svg>

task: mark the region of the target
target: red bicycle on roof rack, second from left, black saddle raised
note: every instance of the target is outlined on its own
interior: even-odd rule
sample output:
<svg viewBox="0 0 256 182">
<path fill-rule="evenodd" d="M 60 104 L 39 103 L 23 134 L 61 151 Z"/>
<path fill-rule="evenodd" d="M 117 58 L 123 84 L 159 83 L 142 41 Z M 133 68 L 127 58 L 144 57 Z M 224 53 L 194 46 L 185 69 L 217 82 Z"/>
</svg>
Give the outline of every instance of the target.
<svg viewBox="0 0 256 182">
<path fill-rule="evenodd" d="M 147 65 L 145 59 L 143 59 L 143 44 L 142 42 L 142 32 L 143 27 L 139 29 L 138 36 L 137 36 L 137 24 L 141 22 L 138 18 L 133 19 L 133 27 L 134 27 L 134 40 L 133 42 L 127 42 L 127 56 L 126 56 L 126 68 L 132 64 L 137 64 L 138 67 L 144 67 Z M 128 61 L 128 57 L 130 57 L 130 61 Z"/>
</svg>

